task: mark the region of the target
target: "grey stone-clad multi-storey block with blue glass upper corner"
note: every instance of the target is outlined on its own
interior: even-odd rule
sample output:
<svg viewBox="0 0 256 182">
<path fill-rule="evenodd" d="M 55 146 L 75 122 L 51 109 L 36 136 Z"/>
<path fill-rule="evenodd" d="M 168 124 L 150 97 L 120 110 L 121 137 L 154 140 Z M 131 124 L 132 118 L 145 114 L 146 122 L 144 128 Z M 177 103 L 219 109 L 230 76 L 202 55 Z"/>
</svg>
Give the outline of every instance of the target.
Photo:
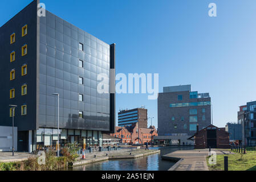
<svg viewBox="0 0 256 182">
<path fill-rule="evenodd" d="M 191 92 L 191 85 L 164 87 L 157 100 L 158 137 L 164 144 L 193 144 L 187 140 L 211 123 L 209 93 Z"/>
</svg>

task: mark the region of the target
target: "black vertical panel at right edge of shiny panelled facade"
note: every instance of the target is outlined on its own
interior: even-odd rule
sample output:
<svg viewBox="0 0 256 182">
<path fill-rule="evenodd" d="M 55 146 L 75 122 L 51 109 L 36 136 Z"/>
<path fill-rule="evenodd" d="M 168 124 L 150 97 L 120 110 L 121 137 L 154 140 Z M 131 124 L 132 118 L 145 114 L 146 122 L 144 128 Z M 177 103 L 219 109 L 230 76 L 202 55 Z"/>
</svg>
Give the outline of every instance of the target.
<svg viewBox="0 0 256 182">
<path fill-rule="evenodd" d="M 109 65 L 109 68 L 110 69 L 115 69 L 115 67 L 116 67 L 116 44 L 111 44 L 110 45 L 110 65 Z M 110 79 L 111 79 L 111 77 L 110 77 Z M 110 85 L 110 87 L 115 86 L 115 79 L 110 80 L 110 84 L 111 84 L 111 82 L 114 85 Z M 110 133 L 115 133 L 115 115 L 116 115 L 116 112 L 115 112 L 115 110 L 116 110 L 116 96 L 115 96 L 115 93 L 110 93 L 109 98 L 110 98 L 109 132 Z"/>
</svg>

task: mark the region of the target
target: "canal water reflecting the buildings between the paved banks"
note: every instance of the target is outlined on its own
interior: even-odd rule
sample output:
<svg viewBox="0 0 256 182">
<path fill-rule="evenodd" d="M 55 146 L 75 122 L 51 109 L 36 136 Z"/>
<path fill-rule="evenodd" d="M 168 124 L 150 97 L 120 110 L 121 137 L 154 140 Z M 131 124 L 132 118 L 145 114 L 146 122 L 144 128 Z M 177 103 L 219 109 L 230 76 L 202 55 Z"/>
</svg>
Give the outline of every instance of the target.
<svg viewBox="0 0 256 182">
<path fill-rule="evenodd" d="M 103 162 L 86 164 L 68 168 L 71 171 L 167 171 L 175 163 L 162 160 L 161 155 L 169 154 L 176 150 L 192 150 L 194 147 L 149 147 L 160 150 L 158 154 L 148 155 L 136 159 L 105 160 Z"/>
</svg>

